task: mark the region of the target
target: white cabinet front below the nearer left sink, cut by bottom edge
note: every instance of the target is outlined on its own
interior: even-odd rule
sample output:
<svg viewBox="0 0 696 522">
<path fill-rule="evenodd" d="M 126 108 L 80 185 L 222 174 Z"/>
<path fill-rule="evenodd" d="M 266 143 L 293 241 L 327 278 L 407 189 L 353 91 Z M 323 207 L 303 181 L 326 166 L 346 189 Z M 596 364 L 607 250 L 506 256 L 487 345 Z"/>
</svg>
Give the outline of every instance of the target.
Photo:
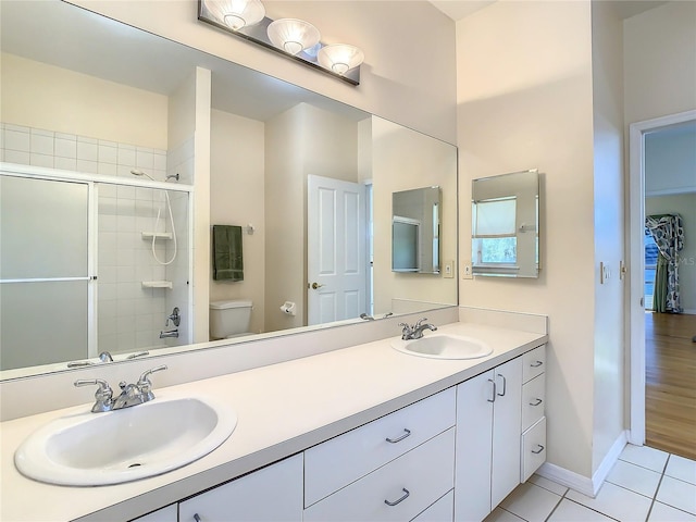
<svg viewBox="0 0 696 522">
<path fill-rule="evenodd" d="M 301 521 L 302 456 L 289 457 L 181 502 L 178 520 L 179 522 Z"/>
</svg>

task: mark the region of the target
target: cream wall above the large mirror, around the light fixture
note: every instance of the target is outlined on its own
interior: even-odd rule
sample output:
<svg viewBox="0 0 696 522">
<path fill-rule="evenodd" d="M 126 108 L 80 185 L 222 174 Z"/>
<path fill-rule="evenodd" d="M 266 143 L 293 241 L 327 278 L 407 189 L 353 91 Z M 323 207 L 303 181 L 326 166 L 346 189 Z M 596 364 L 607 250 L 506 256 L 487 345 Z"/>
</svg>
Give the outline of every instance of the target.
<svg viewBox="0 0 696 522">
<path fill-rule="evenodd" d="M 197 2 L 71 0 L 136 27 L 306 87 L 387 120 L 456 140 L 455 25 L 424 1 L 265 1 L 266 15 L 307 20 L 326 44 L 365 53 L 359 87 L 198 22 Z"/>
</svg>

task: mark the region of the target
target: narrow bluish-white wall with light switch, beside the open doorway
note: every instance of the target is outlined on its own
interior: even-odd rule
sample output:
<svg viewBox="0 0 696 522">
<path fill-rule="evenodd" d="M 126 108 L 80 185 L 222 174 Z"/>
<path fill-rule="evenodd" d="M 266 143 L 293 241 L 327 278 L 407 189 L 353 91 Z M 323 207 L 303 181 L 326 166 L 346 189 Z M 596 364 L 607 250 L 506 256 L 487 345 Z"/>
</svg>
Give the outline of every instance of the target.
<svg viewBox="0 0 696 522">
<path fill-rule="evenodd" d="M 592 2 L 594 125 L 594 435 L 596 473 L 624 431 L 623 41 L 610 2 Z M 601 283 L 600 263 L 608 268 Z M 607 465 L 613 462 L 608 462 Z M 608 470 L 602 470 L 608 472 Z M 604 480 L 604 476 L 601 476 Z"/>
</svg>

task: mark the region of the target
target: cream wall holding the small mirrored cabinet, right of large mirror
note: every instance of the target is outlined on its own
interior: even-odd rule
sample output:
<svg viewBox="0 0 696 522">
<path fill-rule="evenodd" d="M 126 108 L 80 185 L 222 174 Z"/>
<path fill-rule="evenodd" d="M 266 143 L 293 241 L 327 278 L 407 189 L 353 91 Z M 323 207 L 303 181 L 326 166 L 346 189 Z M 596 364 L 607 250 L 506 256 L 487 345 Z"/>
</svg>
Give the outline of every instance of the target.
<svg viewBox="0 0 696 522">
<path fill-rule="evenodd" d="M 594 431 L 594 127 L 588 2 L 496 2 L 457 23 L 460 261 L 471 181 L 538 167 L 538 279 L 460 279 L 463 306 L 548 314 L 548 460 L 589 477 Z"/>
</svg>

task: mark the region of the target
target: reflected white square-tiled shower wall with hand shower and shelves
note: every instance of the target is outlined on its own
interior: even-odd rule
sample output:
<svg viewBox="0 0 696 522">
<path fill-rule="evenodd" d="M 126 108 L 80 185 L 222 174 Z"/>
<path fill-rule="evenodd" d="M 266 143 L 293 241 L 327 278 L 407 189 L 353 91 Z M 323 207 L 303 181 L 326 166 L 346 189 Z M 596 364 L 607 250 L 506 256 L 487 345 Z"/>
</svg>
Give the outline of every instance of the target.
<svg viewBox="0 0 696 522">
<path fill-rule="evenodd" d="M 182 182 L 190 183 L 192 138 L 170 157 L 176 160 L 172 173 L 178 169 Z M 134 167 L 160 181 L 167 174 L 164 150 L 11 124 L 0 124 L 0 161 L 128 178 Z M 159 335 L 169 330 L 164 323 L 174 306 L 183 313 L 187 308 L 188 254 L 182 254 L 188 251 L 187 196 L 172 192 L 179 253 L 167 274 L 167 266 L 154 261 L 151 241 L 141 238 L 141 232 L 154 232 L 158 209 L 161 216 L 157 232 L 165 229 L 169 216 L 164 192 L 105 184 L 98 187 L 98 350 L 117 353 L 178 344 Z M 156 246 L 160 259 L 171 258 L 172 241 L 158 240 Z M 174 281 L 174 290 L 142 288 L 142 281 L 163 279 Z"/>
</svg>

